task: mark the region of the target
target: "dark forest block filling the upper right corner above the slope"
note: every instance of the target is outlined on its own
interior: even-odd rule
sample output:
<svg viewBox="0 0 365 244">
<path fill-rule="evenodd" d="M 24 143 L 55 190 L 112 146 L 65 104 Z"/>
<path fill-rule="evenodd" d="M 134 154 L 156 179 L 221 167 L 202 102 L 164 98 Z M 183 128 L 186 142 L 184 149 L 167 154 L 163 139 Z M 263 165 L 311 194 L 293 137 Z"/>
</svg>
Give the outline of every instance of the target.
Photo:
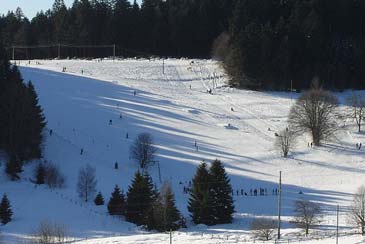
<svg viewBox="0 0 365 244">
<path fill-rule="evenodd" d="M 239 0 L 216 43 L 231 84 L 296 90 L 365 88 L 365 2 Z"/>
</svg>

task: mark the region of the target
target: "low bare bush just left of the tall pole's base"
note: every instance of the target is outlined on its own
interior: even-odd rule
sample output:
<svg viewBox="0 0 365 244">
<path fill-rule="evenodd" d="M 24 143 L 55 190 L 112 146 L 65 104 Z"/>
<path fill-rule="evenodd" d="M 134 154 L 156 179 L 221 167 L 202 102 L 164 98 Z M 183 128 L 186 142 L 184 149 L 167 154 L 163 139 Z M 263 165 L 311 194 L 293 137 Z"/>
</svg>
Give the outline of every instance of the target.
<svg viewBox="0 0 365 244">
<path fill-rule="evenodd" d="M 251 223 L 251 230 L 254 236 L 265 241 L 271 240 L 276 227 L 275 220 L 268 218 L 258 218 Z"/>
</svg>

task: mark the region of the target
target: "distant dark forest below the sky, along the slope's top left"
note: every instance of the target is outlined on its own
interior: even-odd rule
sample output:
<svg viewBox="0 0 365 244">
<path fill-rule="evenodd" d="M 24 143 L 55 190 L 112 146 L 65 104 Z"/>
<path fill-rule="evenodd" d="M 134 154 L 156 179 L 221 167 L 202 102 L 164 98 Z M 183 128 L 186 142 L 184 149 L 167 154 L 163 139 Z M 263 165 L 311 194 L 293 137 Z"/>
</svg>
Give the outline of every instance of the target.
<svg viewBox="0 0 365 244">
<path fill-rule="evenodd" d="M 67 8 L 63 0 L 55 0 L 51 9 L 31 20 L 20 8 L 9 12 L 0 18 L 0 31 L 7 46 L 116 44 L 120 56 L 209 57 L 213 39 L 228 28 L 233 2 L 143 0 L 139 6 L 129 0 L 77 0 Z M 28 52 L 32 57 L 48 55 Z M 95 49 L 83 52 L 66 55 L 101 54 Z"/>
</svg>

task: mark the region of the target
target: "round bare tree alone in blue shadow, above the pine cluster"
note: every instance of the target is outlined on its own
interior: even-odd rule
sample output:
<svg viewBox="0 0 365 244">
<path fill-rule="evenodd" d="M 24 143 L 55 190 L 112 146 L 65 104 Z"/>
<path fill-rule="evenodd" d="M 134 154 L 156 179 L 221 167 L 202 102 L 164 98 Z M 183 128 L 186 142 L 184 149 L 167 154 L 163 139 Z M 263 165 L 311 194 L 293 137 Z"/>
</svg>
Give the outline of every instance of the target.
<svg viewBox="0 0 365 244">
<path fill-rule="evenodd" d="M 153 138 L 149 133 L 141 133 L 135 139 L 130 148 L 131 158 L 138 161 L 142 169 L 154 162 L 157 148 L 153 145 Z"/>
</svg>

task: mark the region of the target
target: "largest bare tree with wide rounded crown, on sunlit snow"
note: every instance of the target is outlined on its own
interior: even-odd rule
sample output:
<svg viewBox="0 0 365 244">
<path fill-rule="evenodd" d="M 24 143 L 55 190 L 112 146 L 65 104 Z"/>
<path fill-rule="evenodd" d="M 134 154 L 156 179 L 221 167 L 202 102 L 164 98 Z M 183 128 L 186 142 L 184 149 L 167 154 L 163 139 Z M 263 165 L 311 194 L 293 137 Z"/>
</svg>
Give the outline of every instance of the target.
<svg viewBox="0 0 365 244">
<path fill-rule="evenodd" d="M 306 91 L 291 108 L 289 123 L 296 132 L 310 132 L 314 145 L 338 130 L 337 98 L 328 91 L 313 88 Z"/>
</svg>

